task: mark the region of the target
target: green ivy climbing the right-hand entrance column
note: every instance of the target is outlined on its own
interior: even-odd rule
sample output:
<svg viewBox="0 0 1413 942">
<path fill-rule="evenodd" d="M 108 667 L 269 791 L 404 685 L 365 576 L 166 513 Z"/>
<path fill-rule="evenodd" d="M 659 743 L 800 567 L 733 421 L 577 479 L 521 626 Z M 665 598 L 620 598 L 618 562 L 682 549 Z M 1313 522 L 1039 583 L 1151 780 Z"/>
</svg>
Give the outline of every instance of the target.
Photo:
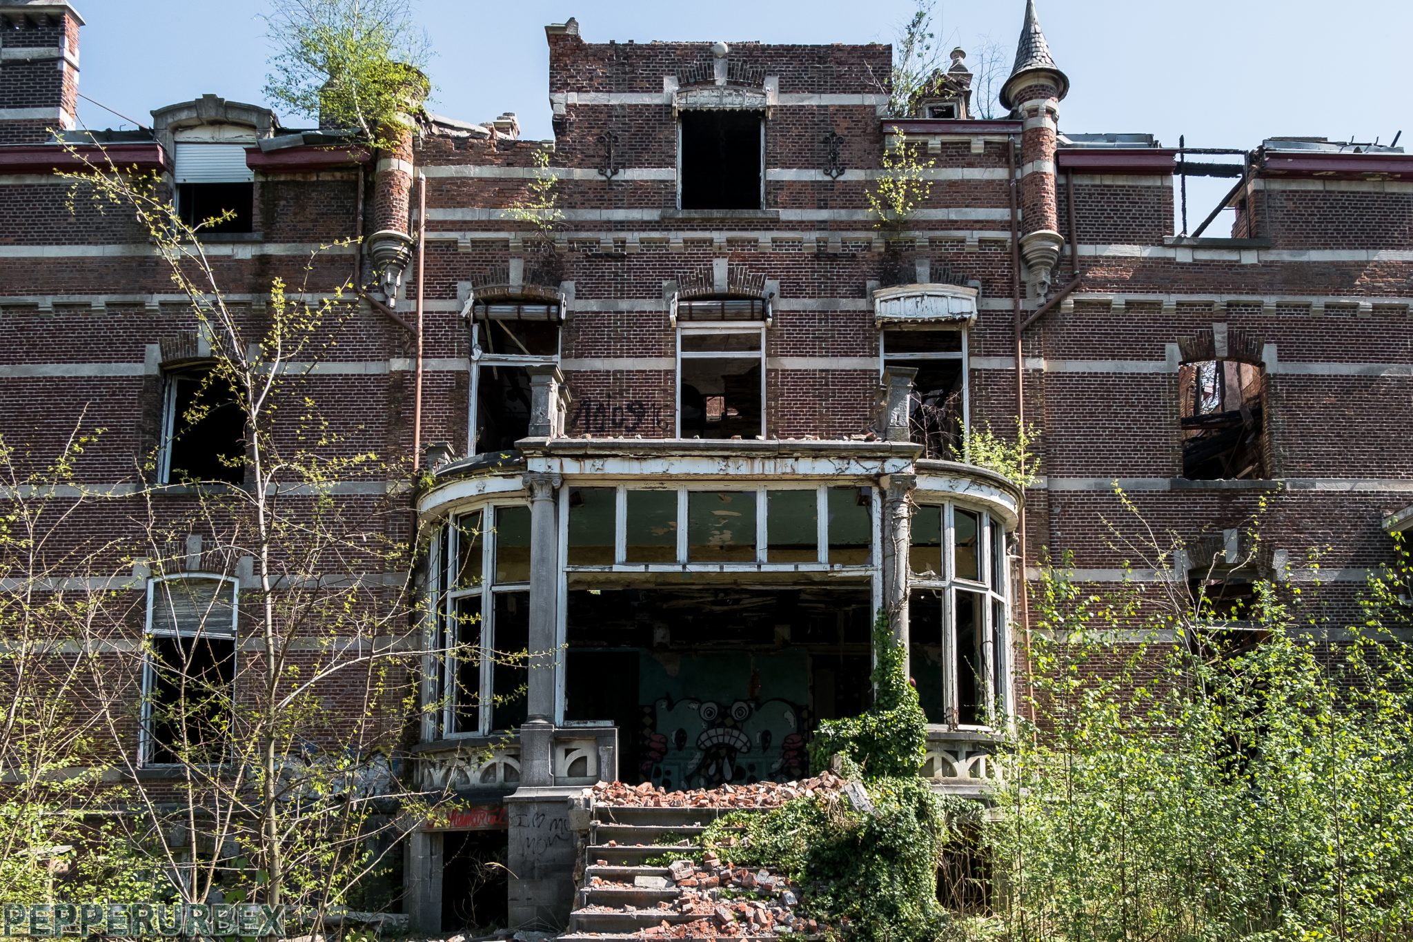
<svg viewBox="0 0 1413 942">
<path fill-rule="evenodd" d="M 893 640 L 885 612 L 873 621 L 873 706 L 859 716 L 820 723 L 810 743 L 815 773 L 841 756 L 846 777 L 855 771 L 866 778 L 910 777 L 927 756 L 927 715 L 907 682 L 906 652 Z"/>
</svg>

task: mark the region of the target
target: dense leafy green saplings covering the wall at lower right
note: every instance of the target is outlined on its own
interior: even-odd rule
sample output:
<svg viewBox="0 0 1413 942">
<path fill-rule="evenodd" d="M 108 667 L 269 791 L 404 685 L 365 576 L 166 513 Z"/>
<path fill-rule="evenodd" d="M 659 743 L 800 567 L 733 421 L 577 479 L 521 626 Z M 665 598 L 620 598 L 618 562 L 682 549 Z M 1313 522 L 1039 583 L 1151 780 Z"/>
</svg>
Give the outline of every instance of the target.
<svg viewBox="0 0 1413 942">
<path fill-rule="evenodd" d="M 1154 547 L 1142 565 L 1170 565 Z M 1409 548 L 1359 599 L 1297 578 L 1245 610 L 1187 582 L 1041 580 L 1037 726 L 986 828 L 1006 938 L 1409 938 Z"/>
</svg>

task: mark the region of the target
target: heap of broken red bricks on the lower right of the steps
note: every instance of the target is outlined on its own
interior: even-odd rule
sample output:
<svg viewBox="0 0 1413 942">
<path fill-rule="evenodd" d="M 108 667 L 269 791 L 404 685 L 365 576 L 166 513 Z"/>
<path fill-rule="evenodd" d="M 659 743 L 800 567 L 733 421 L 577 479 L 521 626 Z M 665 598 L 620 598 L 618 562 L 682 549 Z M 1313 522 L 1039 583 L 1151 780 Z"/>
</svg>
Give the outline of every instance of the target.
<svg viewBox="0 0 1413 942">
<path fill-rule="evenodd" d="M 691 860 L 674 860 L 667 877 L 637 877 L 632 887 L 640 890 L 678 890 L 673 902 L 658 902 L 667 914 L 697 917 L 688 921 L 663 919 L 643 929 L 654 938 L 760 936 L 790 932 L 817 935 L 820 924 L 796 912 L 800 887 L 769 870 L 733 867 L 706 852 L 698 867 Z M 589 886 L 612 888 L 615 884 L 592 877 Z M 629 884 L 616 884 L 627 890 Z M 603 907 L 603 911 L 612 911 Z"/>
</svg>

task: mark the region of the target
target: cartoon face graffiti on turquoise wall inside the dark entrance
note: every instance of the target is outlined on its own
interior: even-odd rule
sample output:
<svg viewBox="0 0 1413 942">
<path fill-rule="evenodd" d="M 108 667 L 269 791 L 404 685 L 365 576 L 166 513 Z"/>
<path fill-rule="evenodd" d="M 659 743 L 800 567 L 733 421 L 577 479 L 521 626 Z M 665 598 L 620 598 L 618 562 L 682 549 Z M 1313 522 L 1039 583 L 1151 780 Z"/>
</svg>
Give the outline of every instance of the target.
<svg viewBox="0 0 1413 942">
<path fill-rule="evenodd" d="M 810 771 L 807 710 L 784 699 L 658 698 L 644 706 L 643 778 L 663 788 L 791 781 Z"/>
</svg>

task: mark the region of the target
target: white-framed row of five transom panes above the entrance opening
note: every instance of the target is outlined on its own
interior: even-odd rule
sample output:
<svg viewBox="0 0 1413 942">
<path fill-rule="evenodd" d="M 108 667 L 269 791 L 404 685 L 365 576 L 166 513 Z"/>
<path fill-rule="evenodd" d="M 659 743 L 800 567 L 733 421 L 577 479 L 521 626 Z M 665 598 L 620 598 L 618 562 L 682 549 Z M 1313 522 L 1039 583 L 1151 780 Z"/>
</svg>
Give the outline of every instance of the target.
<svg viewBox="0 0 1413 942">
<path fill-rule="evenodd" d="M 839 482 L 791 482 L 781 484 L 711 482 L 690 484 L 650 484 L 640 482 L 572 482 L 565 483 L 565 494 L 572 487 L 613 489 L 613 564 L 603 566 L 569 565 L 569 501 L 562 500 L 560 511 L 560 558 L 565 573 L 579 572 L 858 572 L 870 573 L 879 566 L 880 537 L 879 518 L 882 500 L 873 484 L 852 484 Z M 829 562 L 829 489 L 848 487 L 869 491 L 869 559 L 865 564 Z M 677 494 L 677 562 L 627 562 L 627 491 L 656 490 Z M 771 491 L 815 491 L 815 539 L 814 562 L 770 562 L 769 494 Z M 690 500 L 694 493 L 755 493 L 756 496 L 756 558 L 752 562 L 694 562 L 690 558 L 691 534 L 688 532 Z"/>
</svg>

